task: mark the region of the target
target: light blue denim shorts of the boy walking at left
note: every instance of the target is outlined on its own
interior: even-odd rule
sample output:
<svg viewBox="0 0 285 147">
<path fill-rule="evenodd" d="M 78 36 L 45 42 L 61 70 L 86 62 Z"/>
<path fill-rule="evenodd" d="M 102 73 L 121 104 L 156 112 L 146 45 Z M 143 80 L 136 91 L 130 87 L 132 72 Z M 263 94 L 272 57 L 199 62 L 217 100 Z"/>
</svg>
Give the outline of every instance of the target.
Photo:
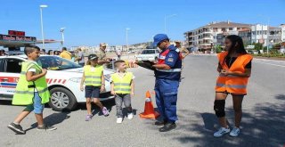
<svg viewBox="0 0 285 147">
<path fill-rule="evenodd" d="M 29 104 L 25 111 L 34 111 L 35 114 L 42 114 L 45 108 L 45 104 L 42 104 L 42 99 L 39 97 L 38 93 L 35 93 L 32 104 Z"/>
</svg>

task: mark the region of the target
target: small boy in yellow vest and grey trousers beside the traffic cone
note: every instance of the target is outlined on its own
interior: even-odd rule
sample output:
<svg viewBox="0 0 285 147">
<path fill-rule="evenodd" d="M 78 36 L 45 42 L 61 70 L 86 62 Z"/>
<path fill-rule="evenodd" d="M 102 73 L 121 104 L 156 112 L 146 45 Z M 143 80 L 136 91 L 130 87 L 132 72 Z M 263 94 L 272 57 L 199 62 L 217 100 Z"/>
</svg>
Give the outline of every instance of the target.
<svg viewBox="0 0 285 147">
<path fill-rule="evenodd" d="M 134 117 L 131 106 L 131 94 L 134 96 L 134 76 L 132 72 L 126 72 L 125 61 L 115 61 L 115 67 L 118 72 L 111 75 L 110 93 L 116 95 L 117 123 L 122 123 L 122 102 L 124 102 L 127 110 L 127 118 Z"/>
</svg>

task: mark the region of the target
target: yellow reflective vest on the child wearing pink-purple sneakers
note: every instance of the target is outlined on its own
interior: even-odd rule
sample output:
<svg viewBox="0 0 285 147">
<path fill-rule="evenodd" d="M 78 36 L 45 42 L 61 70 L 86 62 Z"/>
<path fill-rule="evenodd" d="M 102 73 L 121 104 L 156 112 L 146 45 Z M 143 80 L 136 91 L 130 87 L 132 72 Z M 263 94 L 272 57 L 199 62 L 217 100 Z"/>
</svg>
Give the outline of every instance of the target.
<svg viewBox="0 0 285 147">
<path fill-rule="evenodd" d="M 91 65 L 84 67 L 85 74 L 85 86 L 101 86 L 102 85 L 102 66 L 94 67 L 94 71 L 91 71 Z"/>
</svg>

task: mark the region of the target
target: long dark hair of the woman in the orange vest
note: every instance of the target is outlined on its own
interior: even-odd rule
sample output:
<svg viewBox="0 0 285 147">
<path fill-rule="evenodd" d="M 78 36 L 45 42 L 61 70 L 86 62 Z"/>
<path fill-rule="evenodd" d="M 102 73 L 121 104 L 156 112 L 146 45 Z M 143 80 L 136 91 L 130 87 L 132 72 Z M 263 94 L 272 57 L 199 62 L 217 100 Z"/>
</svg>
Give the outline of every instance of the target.
<svg viewBox="0 0 285 147">
<path fill-rule="evenodd" d="M 226 58 L 230 56 L 231 53 L 236 52 L 239 54 L 247 54 L 246 49 L 244 48 L 242 38 L 236 35 L 230 35 L 225 37 L 226 39 L 229 39 L 232 42 L 232 46 L 228 50 L 228 54 L 225 56 L 224 61 Z M 223 61 L 223 64 L 224 64 Z"/>
</svg>

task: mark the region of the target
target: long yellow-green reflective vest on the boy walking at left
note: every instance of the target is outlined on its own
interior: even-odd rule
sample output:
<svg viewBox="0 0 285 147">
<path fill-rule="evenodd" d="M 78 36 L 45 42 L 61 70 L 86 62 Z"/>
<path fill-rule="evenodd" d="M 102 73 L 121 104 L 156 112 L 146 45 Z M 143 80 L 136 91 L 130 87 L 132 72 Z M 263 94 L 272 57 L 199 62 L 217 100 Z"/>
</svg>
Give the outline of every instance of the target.
<svg viewBox="0 0 285 147">
<path fill-rule="evenodd" d="M 20 78 L 13 95 L 12 104 L 28 105 L 33 103 L 36 89 L 42 103 L 49 102 L 50 93 L 48 91 L 45 76 L 37 78 L 34 82 L 28 82 L 26 79 L 28 69 L 34 67 L 36 69 L 36 74 L 40 74 L 42 68 L 33 61 L 23 61 L 21 66 Z"/>
</svg>

